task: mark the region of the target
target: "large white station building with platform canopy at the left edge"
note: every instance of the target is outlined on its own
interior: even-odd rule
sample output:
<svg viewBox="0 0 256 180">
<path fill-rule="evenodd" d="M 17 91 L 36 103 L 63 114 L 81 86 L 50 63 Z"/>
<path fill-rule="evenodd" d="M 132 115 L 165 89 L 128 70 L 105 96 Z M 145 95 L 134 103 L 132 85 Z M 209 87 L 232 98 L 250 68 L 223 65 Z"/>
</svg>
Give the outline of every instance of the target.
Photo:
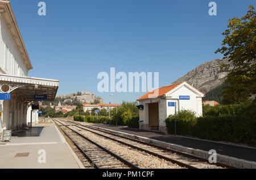
<svg viewBox="0 0 256 180">
<path fill-rule="evenodd" d="M 59 81 L 28 77 L 31 69 L 10 2 L 0 0 L 0 139 L 3 130 L 21 131 L 36 122 L 32 104 L 55 99 Z"/>
</svg>

